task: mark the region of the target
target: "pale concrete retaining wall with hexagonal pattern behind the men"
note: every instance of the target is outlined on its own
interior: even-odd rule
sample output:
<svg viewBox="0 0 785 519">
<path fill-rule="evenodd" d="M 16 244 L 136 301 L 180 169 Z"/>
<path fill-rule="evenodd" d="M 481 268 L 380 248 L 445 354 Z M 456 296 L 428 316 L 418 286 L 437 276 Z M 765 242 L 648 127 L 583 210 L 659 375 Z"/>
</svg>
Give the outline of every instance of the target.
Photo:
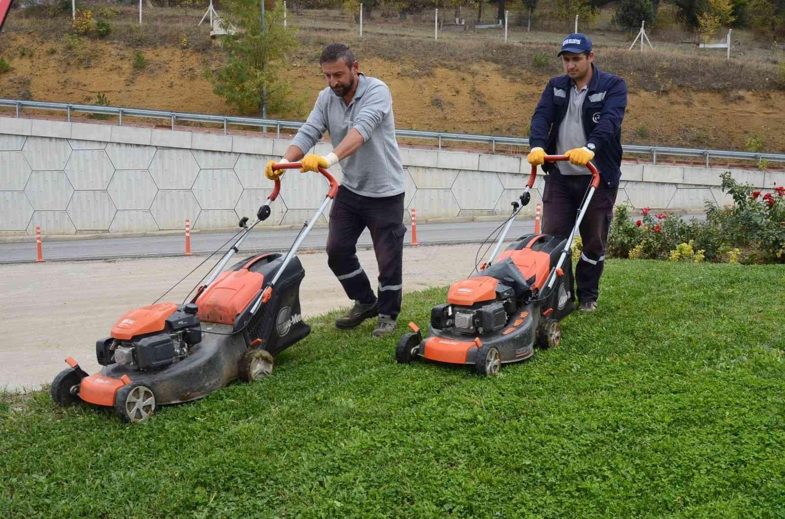
<svg viewBox="0 0 785 519">
<path fill-rule="evenodd" d="M 0 233 L 139 232 L 235 227 L 254 216 L 271 183 L 263 169 L 289 140 L 81 122 L 0 118 Z M 330 151 L 319 143 L 319 154 Z M 451 151 L 401 150 L 406 207 L 421 219 L 502 216 L 520 195 L 525 158 Z M 338 180 L 338 165 L 332 169 Z M 624 165 L 618 202 L 636 208 L 696 211 L 729 203 L 723 169 Z M 756 187 L 785 183 L 785 173 L 739 170 Z M 535 184 L 533 214 L 542 176 Z M 326 192 L 315 174 L 290 172 L 267 225 L 301 223 Z M 327 223 L 325 216 L 324 223 Z"/>
</svg>

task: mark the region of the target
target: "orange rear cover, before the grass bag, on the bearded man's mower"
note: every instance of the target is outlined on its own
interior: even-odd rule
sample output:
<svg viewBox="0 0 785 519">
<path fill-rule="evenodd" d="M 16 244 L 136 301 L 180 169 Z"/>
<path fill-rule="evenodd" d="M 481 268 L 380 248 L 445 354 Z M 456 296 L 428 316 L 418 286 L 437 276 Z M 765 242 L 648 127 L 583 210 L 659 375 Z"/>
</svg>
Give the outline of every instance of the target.
<svg viewBox="0 0 785 519">
<path fill-rule="evenodd" d="M 196 299 L 199 320 L 234 325 L 240 312 L 259 293 L 264 281 L 265 276 L 246 268 L 224 272 Z"/>
</svg>

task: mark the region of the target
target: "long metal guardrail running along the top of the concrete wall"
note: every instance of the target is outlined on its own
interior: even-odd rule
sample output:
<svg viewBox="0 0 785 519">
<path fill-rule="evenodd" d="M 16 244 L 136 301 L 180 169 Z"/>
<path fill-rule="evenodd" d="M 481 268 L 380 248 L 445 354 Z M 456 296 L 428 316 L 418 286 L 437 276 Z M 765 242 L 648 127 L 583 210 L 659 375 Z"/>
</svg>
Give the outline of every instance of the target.
<svg viewBox="0 0 785 519">
<path fill-rule="evenodd" d="M 0 107 L 15 107 L 16 117 L 24 108 L 34 108 L 36 110 L 64 111 L 67 113 L 68 122 L 71 122 L 71 113 L 80 112 L 87 114 L 108 114 L 119 118 L 122 125 L 122 117 L 143 117 L 164 119 L 171 122 L 172 129 L 177 121 L 189 122 L 210 122 L 224 125 L 224 134 L 228 132 L 228 125 L 257 126 L 267 132 L 268 127 L 275 126 L 278 137 L 281 136 L 281 129 L 299 129 L 305 123 L 298 121 L 281 121 L 278 119 L 262 119 L 250 117 L 235 117 L 224 115 L 191 114 L 188 112 L 173 112 L 160 110 L 144 110 L 141 108 L 121 108 L 121 107 L 101 107 L 92 104 L 74 103 L 49 103 L 45 101 L 27 101 L 0 99 Z M 420 130 L 396 129 L 396 136 L 410 137 L 414 139 L 436 140 L 439 149 L 442 141 L 486 143 L 491 145 L 491 150 L 495 153 L 496 144 L 508 144 L 512 146 L 528 146 L 529 140 L 519 137 L 476 135 L 473 133 L 451 133 L 451 132 L 423 132 Z M 654 164 L 657 163 L 657 155 L 675 155 L 684 157 L 706 158 L 706 165 L 709 167 L 710 158 L 733 158 L 755 161 L 760 164 L 763 161 L 785 162 L 785 154 L 777 153 L 757 153 L 752 151 L 728 151 L 728 150 L 708 150 L 700 148 L 666 147 L 666 146 L 639 146 L 627 144 L 623 145 L 624 152 L 627 154 L 644 154 L 652 157 Z"/>
</svg>

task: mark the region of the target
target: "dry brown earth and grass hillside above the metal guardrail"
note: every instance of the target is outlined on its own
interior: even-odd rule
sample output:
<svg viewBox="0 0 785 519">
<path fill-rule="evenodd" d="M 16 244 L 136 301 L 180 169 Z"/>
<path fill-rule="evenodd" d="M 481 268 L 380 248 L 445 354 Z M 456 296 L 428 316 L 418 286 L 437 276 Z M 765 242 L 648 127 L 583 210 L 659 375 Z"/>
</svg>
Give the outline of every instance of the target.
<svg viewBox="0 0 785 519">
<path fill-rule="evenodd" d="M 236 114 L 203 77 L 225 54 L 206 24 L 197 27 L 202 11 L 156 8 L 141 27 L 135 8 L 115 11 L 111 34 L 97 39 L 73 38 L 68 12 L 13 10 L 0 35 L 0 56 L 10 66 L 0 74 L 0 97 L 96 103 L 101 94 L 122 107 Z M 302 46 L 287 74 L 301 109 L 273 117 L 305 118 L 323 88 L 319 49 L 337 40 L 352 45 L 366 74 L 390 85 L 399 128 L 526 136 L 543 86 L 560 73 L 557 32 L 513 27 L 509 45 L 498 31 L 445 33 L 434 42 L 427 24 L 377 18 L 360 39 L 345 16 L 331 16 L 290 13 Z M 655 52 L 630 52 L 630 35 L 592 35 L 598 66 L 629 85 L 624 143 L 785 152 L 776 49 L 743 40 L 726 61 L 724 51 L 656 38 Z"/>
</svg>

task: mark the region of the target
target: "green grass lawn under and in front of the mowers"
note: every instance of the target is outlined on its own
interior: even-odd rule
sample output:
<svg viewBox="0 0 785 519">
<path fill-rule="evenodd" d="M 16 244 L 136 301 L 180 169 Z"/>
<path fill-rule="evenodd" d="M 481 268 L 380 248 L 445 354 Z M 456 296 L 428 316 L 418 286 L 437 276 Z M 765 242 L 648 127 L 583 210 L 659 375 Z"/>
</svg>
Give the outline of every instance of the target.
<svg viewBox="0 0 785 519">
<path fill-rule="evenodd" d="M 147 423 L 5 394 L 0 517 L 783 517 L 783 316 L 782 266 L 611 260 L 600 310 L 495 378 L 327 316 Z"/>
</svg>

